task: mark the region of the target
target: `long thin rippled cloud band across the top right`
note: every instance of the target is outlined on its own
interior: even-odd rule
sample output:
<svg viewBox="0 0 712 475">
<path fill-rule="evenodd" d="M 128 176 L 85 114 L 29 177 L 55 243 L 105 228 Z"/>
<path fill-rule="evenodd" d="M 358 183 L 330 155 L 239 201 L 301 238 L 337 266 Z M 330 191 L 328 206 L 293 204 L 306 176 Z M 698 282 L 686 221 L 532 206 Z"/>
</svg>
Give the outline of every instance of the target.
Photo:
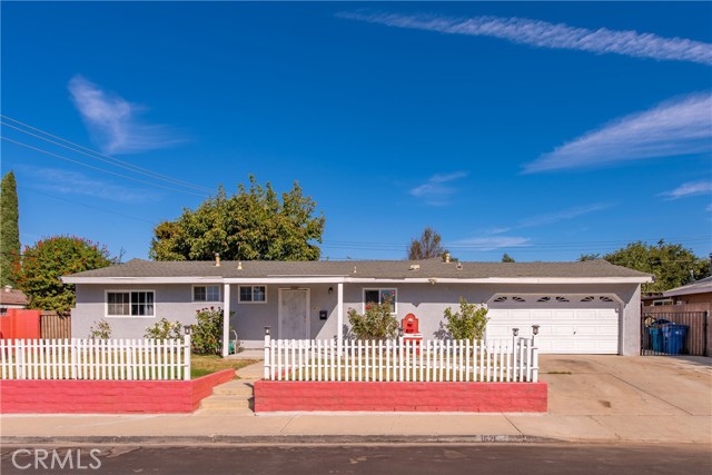
<svg viewBox="0 0 712 475">
<path fill-rule="evenodd" d="M 712 44 L 684 38 L 664 38 L 637 31 L 607 28 L 590 30 L 564 23 L 526 18 L 448 18 L 426 14 L 342 12 L 340 18 L 389 27 L 437 31 L 451 34 L 492 37 L 538 48 L 572 49 L 595 53 L 617 53 L 657 60 L 712 65 Z"/>
</svg>

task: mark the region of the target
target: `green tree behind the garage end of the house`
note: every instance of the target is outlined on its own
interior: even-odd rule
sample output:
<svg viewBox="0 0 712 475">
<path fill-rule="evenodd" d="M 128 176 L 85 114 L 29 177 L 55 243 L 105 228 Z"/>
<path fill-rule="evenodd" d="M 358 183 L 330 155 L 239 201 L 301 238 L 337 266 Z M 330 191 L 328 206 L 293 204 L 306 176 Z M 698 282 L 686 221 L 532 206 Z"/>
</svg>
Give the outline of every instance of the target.
<svg viewBox="0 0 712 475">
<path fill-rule="evenodd" d="M 661 293 L 689 284 L 691 278 L 710 275 L 710 260 L 699 258 L 679 244 L 660 240 L 656 245 L 636 241 L 603 256 L 605 260 L 655 276 L 652 284 L 643 284 L 644 293 Z M 692 275 L 691 275 L 692 273 Z"/>
</svg>

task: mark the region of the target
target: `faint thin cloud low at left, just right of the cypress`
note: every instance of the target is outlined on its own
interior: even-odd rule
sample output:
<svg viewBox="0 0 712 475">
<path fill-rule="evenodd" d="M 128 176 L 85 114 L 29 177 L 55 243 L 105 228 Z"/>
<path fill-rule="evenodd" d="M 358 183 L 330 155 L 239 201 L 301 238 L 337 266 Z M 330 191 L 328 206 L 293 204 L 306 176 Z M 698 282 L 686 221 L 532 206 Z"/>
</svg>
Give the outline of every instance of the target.
<svg viewBox="0 0 712 475">
<path fill-rule="evenodd" d="M 48 192 L 80 195 L 127 204 L 154 201 L 159 197 L 152 191 L 113 185 L 76 171 L 40 167 L 22 167 L 22 169 L 32 175 L 34 185 L 40 185 L 41 189 Z"/>
</svg>

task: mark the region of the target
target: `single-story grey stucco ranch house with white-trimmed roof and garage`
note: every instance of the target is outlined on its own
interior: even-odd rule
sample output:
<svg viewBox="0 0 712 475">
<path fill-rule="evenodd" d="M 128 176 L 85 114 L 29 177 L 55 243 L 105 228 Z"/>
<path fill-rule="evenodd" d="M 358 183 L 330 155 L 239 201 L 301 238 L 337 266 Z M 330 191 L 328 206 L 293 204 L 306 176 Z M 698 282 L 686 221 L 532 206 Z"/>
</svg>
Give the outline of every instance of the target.
<svg viewBox="0 0 712 475">
<path fill-rule="evenodd" d="M 184 324 L 196 310 L 221 307 L 246 348 L 274 338 L 344 338 L 349 308 L 390 298 L 394 315 L 414 314 L 424 338 L 442 336 L 447 307 L 459 297 L 484 304 L 486 338 L 536 338 L 542 353 L 636 355 L 641 284 L 651 276 L 605 260 L 583 263 L 149 261 L 63 277 L 76 284 L 72 336 L 87 338 L 103 319 L 112 338 L 141 338 L 160 318 Z M 225 328 L 224 353 L 233 336 Z"/>
</svg>

